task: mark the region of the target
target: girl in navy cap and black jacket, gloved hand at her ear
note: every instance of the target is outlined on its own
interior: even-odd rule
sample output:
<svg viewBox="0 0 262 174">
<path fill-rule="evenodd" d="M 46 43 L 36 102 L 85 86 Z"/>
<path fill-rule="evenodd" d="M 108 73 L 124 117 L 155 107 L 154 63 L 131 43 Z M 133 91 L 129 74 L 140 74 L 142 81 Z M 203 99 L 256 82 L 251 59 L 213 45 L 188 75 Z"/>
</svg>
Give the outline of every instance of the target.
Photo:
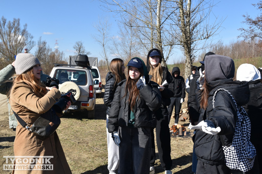
<svg viewBox="0 0 262 174">
<path fill-rule="evenodd" d="M 161 94 L 140 58 L 127 66 L 128 79 L 118 83 L 111 103 L 108 132 L 119 146 L 120 173 L 149 173 L 150 128 L 156 125 L 154 111 L 161 106 Z"/>
</svg>

